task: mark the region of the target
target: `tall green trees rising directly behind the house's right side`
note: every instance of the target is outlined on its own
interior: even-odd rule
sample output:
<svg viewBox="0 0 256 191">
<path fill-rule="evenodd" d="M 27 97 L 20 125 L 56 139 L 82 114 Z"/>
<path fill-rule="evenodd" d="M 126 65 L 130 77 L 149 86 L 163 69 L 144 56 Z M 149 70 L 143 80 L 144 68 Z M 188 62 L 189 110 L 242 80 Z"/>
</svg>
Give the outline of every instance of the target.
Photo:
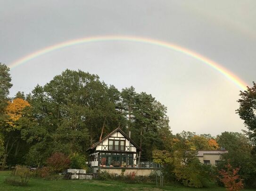
<svg viewBox="0 0 256 191">
<path fill-rule="evenodd" d="M 150 160 L 154 149 L 163 149 L 164 142 L 170 138 L 171 131 L 167 108 L 146 92 L 136 93 L 133 87 L 121 92 L 122 114 L 126 120 L 127 131 L 132 139 L 143 149 L 140 160 Z M 166 144 L 167 145 L 167 144 Z"/>
</svg>

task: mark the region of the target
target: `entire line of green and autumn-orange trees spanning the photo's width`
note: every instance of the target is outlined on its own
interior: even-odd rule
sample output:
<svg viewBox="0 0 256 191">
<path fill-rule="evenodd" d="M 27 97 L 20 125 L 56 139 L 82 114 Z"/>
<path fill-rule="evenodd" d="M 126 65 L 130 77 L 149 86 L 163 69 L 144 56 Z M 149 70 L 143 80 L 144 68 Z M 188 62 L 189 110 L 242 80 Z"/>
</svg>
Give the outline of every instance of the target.
<svg viewBox="0 0 256 191">
<path fill-rule="evenodd" d="M 167 108 L 134 87 L 119 91 L 98 75 L 66 69 L 27 95 L 10 98 L 9 69 L 0 63 L 0 165 L 47 165 L 53 153 L 87 158 L 86 149 L 101 136 L 120 127 L 142 148 L 139 160 L 155 160 L 165 167 L 165 179 L 192 187 L 204 186 L 206 176 L 239 168 L 248 186 L 256 183 L 256 84 L 241 92 L 237 110 L 248 131 L 223 132 L 217 137 L 182 131 L 172 134 Z M 102 131 L 103 130 L 103 135 Z M 197 150 L 219 150 L 217 169 L 199 163 Z M 182 161 L 182 163 L 181 163 Z M 188 176 L 190 175 L 190 176 Z"/>
</svg>

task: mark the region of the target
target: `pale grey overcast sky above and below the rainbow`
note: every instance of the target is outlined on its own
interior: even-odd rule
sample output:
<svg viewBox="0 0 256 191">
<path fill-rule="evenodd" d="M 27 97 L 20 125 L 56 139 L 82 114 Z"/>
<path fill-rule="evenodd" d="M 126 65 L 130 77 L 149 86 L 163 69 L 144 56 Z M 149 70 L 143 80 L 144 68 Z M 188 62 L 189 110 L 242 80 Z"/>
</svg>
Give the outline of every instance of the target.
<svg viewBox="0 0 256 191">
<path fill-rule="evenodd" d="M 74 38 L 129 35 L 197 52 L 249 86 L 256 81 L 255 0 L 0 0 L 0 62 Z M 138 42 L 84 43 L 10 70 L 29 93 L 65 69 L 98 74 L 119 90 L 134 86 L 168 108 L 173 133 L 220 134 L 245 129 L 235 114 L 240 88 L 184 53 Z"/>
</svg>

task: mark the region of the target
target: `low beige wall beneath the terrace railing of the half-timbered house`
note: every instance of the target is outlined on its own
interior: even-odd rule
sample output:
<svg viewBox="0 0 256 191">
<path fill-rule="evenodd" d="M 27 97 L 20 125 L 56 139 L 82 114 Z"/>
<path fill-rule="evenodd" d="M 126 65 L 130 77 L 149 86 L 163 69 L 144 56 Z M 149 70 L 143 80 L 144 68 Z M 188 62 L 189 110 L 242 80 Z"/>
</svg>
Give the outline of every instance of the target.
<svg viewBox="0 0 256 191">
<path fill-rule="evenodd" d="M 124 175 L 129 175 L 132 172 L 136 173 L 136 176 L 149 176 L 151 173 L 159 173 L 158 169 L 141 169 L 141 168 L 100 168 L 99 171 L 107 171 L 109 174 L 120 175 L 122 169 L 125 169 Z"/>
</svg>

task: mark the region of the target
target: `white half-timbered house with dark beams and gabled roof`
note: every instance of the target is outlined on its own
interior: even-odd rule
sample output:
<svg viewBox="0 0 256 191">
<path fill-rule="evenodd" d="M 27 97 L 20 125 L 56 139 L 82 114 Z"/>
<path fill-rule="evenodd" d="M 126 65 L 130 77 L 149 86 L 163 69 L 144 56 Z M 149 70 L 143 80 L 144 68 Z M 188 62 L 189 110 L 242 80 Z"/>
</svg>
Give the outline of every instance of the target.
<svg viewBox="0 0 256 191">
<path fill-rule="evenodd" d="M 90 152 L 91 167 L 132 167 L 137 164 L 141 149 L 117 128 L 87 151 Z"/>
</svg>

